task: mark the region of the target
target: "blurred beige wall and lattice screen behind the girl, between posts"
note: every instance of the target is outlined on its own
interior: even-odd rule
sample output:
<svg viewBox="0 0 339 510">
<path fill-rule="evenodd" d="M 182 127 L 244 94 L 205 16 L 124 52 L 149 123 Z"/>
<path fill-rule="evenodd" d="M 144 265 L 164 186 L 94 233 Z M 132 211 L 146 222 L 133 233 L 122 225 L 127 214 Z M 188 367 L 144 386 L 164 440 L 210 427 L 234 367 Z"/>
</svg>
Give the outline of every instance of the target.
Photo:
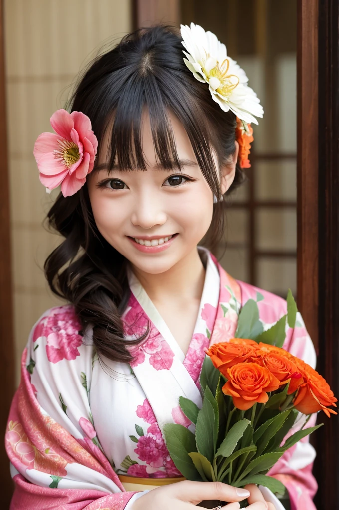
<svg viewBox="0 0 339 510">
<path fill-rule="evenodd" d="M 234 277 L 296 296 L 296 2 L 223 0 L 5 0 L 16 380 L 28 334 L 61 301 L 43 275 L 60 238 L 42 226 L 59 190 L 40 184 L 36 138 L 52 131 L 77 75 L 134 27 L 191 21 L 216 33 L 243 66 L 265 110 L 254 126 L 248 180 L 225 203 L 218 256 Z M 137 8 L 138 7 L 138 8 Z"/>
</svg>

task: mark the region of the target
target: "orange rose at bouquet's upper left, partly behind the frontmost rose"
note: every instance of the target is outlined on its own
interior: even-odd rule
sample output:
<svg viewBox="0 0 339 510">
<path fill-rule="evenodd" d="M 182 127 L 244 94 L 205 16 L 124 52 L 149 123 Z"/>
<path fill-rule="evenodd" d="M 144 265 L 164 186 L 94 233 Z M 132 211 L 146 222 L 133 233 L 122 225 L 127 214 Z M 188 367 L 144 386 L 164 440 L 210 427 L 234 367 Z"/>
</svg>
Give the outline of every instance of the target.
<svg viewBox="0 0 339 510">
<path fill-rule="evenodd" d="M 211 345 L 206 354 L 210 356 L 215 368 L 219 369 L 225 376 L 227 376 L 227 368 L 257 357 L 256 349 L 252 344 L 235 343 L 231 340 Z"/>
</svg>

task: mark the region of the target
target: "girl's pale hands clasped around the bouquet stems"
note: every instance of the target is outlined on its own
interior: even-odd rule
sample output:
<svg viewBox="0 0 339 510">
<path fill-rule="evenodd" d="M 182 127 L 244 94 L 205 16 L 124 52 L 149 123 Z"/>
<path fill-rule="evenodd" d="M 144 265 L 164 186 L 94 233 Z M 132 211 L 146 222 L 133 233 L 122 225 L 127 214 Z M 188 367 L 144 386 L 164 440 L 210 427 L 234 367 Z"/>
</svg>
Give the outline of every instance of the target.
<svg viewBox="0 0 339 510">
<path fill-rule="evenodd" d="M 251 487 L 251 491 L 238 489 L 222 482 L 201 482 L 201 481 L 180 481 L 171 483 L 157 489 L 152 489 L 147 494 L 140 496 L 132 505 L 133 510 L 193 510 L 193 506 L 203 500 L 220 499 L 221 501 L 231 501 L 224 506 L 227 510 L 237 510 L 240 508 L 238 501 L 245 498 L 252 498 L 248 510 L 268 510 L 269 503 L 263 499 L 260 493 Z M 271 508 L 270 508 L 271 510 Z M 273 507 L 273 510 L 274 507 Z"/>
</svg>

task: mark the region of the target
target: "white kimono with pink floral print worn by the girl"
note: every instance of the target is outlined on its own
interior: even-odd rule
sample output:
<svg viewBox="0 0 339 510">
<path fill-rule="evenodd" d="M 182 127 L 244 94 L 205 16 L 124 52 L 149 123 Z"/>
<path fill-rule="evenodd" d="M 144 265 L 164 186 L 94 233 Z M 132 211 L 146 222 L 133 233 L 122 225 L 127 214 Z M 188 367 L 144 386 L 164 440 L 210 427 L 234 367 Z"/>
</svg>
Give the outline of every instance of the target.
<svg viewBox="0 0 339 510">
<path fill-rule="evenodd" d="M 162 437 L 165 423 L 193 427 L 179 407 L 184 396 L 201 406 L 199 376 L 205 348 L 234 337 L 238 313 L 258 303 L 264 329 L 286 313 L 286 301 L 235 281 L 212 254 L 199 247 L 206 278 L 187 354 L 129 271 L 131 294 L 123 315 L 126 340 L 149 335 L 130 347 L 130 364 L 98 359 L 90 327 L 70 304 L 46 311 L 32 328 L 22 357 L 6 448 L 16 489 L 12 510 L 126 510 L 141 491 L 126 491 L 121 475 L 180 477 Z M 284 348 L 314 367 L 316 356 L 298 313 Z M 270 475 L 287 487 L 293 510 L 314 510 L 314 450 L 305 438 L 287 450 Z M 119 478 L 120 476 L 120 478 Z M 283 508 L 267 488 L 267 500 Z"/>
</svg>

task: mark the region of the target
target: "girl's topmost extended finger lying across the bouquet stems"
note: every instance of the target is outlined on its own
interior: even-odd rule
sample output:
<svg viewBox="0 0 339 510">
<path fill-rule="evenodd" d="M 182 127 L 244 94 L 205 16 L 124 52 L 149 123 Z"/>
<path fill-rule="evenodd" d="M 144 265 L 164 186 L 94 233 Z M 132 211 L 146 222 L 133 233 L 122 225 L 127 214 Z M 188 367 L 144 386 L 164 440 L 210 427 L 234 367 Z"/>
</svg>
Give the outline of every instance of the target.
<svg viewBox="0 0 339 510">
<path fill-rule="evenodd" d="M 200 503 L 205 499 L 220 499 L 222 501 L 241 501 L 250 496 L 246 489 L 232 487 L 221 481 L 190 481 L 175 483 L 175 495 L 183 501 Z M 173 492 L 174 494 L 174 492 Z"/>
</svg>

